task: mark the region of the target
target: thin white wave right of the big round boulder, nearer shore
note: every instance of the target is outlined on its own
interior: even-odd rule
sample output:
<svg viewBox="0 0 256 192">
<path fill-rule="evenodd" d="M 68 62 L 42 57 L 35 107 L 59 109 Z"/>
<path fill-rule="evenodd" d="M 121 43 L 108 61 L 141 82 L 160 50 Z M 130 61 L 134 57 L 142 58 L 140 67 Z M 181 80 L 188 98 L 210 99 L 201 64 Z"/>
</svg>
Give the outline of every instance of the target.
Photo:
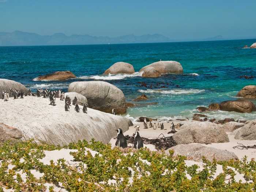
<svg viewBox="0 0 256 192">
<path fill-rule="evenodd" d="M 138 90 L 140 93 L 161 93 L 161 94 L 172 94 L 172 95 L 181 95 L 181 94 L 197 94 L 202 93 L 205 90 L 199 89 L 173 89 L 173 90 L 161 90 L 161 89 L 147 89 L 147 90 Z"/>
</svg>

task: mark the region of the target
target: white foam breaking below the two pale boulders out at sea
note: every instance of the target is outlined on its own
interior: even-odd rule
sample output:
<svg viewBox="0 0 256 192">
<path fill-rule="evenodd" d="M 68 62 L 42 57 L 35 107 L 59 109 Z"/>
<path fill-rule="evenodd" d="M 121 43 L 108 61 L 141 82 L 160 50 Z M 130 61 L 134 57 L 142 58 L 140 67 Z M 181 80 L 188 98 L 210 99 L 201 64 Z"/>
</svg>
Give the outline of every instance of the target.
<svg viewBox="0 0 256 192">
<path fill-rule="evenodd" d="M 109 74 L 109 75 L 91 75 L 81 76 L 78 79 L 96 79 L 96 80 L 120 80 L 132 77 L 141 77 L 143 72 L 135 72 L 133 74 Z"/>
</svg>

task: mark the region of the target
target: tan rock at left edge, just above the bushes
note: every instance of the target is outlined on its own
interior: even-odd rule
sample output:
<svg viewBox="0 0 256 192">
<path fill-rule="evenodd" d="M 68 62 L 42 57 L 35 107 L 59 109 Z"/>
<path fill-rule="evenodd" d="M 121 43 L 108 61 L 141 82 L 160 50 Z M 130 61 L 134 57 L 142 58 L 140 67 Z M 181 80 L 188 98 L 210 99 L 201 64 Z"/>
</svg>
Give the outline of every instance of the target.
<svg viewBox="0 0 256 192">
<path fill-rule="evenodd" d="M 0 123 L 0 143 L 5 141 L 13 142 L 22 137 L 22 132 L 19 129 Z"/>
</svg>

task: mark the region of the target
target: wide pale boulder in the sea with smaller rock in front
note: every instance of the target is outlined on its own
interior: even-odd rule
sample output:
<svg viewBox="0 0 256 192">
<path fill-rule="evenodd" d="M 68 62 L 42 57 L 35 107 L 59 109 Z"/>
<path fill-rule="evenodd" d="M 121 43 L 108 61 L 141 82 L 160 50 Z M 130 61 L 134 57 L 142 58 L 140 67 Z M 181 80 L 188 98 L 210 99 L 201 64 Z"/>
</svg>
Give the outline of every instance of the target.
<svg viewBox="0 0 256 192">
<path fill-rule="evenodd" d="M 181 64 L 178 63 L 177 61 L 158 61 L 141 68 L 140 72 L 144 71 L 148 67 L 154 67 L 155 70 L 158 71 L 160 74 L 167 74 L 167 73 L 182 74 L 183 73 L 183 68 Z"/>
</svg>

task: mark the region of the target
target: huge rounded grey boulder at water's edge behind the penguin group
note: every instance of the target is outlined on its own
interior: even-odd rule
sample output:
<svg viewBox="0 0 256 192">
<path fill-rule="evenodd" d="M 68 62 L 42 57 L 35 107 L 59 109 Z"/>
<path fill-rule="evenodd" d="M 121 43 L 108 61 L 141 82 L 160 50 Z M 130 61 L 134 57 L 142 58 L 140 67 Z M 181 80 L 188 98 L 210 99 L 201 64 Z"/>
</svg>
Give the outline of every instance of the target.
<svg viewBox="0 0 256 192">
<path fill-rule="evenodd" d="M 90 108 L 106 113 L 124 114 L 126 103 L 123 92 L 116 86 L 103 81 L 73 82 L 68 92 L 76 92 L 87 98 Z"/>
</svg>

